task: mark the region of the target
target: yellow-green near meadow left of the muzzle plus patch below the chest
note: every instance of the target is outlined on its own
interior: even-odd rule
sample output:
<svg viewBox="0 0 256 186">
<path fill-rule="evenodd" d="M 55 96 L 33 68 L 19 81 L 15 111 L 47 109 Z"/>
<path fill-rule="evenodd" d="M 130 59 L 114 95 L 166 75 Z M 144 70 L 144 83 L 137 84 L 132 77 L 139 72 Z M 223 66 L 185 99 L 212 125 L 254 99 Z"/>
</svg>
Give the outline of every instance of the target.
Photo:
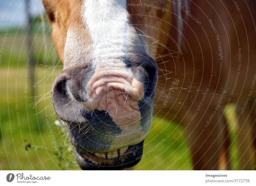
<svg viewBox="0 0 256 186">
<path fill-rule="evenodd" d="M 53 114 L 49 93 L 52 81 L 60 70 L 61 67 L 54 70 L 46 68 L 46 71 L 43 66 L 37 67 L 39 83 L 36 85 L 36 91 L 39 96 L 36 97 L 36 101 L 39 102 L 35 105 L 35 99 L 24 94 L 25 69 L 0 69 L 2 79 L 0 89 L 3 90 L 0 96 L 5 98 L 0 100 L 2 108 L 0 168 L 2 170 L 78 169 L 65 129 L 55 125 L 55 121 L 60 119 Z M 18 82 L 17 95 L 15 95 L 15 82 Z M 18 101 L 15 102 L 17 98 Z M 19 110 L 16 110 L 16 104 Z M 20 125 L 17 121 L 17 112 L 19 112 Z M 183 129 L 175 124 L 161 118 L 154 118 L 145 140 L 145 156 L 136 168 L 139 170 L 165 169 L 167 165 L 182 156 L 179 164 L 173 165 L 172 169 L 179 169 L 180 165 L 183 165 L 181 169 L 190 169 L 188 145 L 182 132 Z M 154 149 L 154 146 L 164 139 L 165 142 Z M 52 145 L 54 141 L 57 147 Z M 154 151 L 147 153 L 152 147 Z"/>
</svg>

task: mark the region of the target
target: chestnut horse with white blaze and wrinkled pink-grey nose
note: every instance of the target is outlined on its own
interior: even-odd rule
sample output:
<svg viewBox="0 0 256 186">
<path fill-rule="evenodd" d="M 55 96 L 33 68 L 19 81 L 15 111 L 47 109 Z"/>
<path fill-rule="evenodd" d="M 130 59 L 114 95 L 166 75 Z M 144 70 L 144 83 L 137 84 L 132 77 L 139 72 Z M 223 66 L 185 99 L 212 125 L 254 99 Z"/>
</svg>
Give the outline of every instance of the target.
<svg viewBox="0 0 256 186">
<path fill-rule="evenodd" d="M 81 169 L 135 166 L 153 115 L 184 127 L 193 169 L 231 169 L 230 103 L 240 169 L 255 169 L 254 1 L 43 3 L 63 63 L 52 102 Z"/>
</svg>

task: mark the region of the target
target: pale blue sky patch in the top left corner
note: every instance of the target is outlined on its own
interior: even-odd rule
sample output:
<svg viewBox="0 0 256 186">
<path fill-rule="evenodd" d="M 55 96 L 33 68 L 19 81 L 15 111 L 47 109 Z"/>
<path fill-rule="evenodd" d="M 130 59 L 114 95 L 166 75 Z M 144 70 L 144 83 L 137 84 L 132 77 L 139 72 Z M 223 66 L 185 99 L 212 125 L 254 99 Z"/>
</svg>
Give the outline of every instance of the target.
<svg viewBox="0 0 256 186">
<path fill-rule="evenodd" d="M 26 0 L 0 0 L 0 30 L 25 27 L 27 8 L 33 16 L 39 14 L 40 9 L 44 12 L 42 0 L 30 0 L 30 5 Z"/>
</svg>

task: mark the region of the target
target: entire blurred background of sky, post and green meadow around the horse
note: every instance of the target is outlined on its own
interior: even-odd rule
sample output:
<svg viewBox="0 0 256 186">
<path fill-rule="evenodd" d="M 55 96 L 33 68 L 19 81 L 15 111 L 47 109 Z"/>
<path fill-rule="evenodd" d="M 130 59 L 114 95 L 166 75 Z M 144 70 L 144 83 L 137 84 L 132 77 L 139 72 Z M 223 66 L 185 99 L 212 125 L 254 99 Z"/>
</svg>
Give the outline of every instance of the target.
<svg viewBox="0 0 256 186">
<path fill-rule="evenodd" d="M 0 0 L 0 170 L 79 169 L 53 110 L 52 82 L 62 65 L 49 32 L 41 0 Z M 189 170 L 188 148 L 181 126 L 154 117 L 135 169 Z M 235 149 L 236 140 L 231 167 L 238 169 Z"/>
</svg>

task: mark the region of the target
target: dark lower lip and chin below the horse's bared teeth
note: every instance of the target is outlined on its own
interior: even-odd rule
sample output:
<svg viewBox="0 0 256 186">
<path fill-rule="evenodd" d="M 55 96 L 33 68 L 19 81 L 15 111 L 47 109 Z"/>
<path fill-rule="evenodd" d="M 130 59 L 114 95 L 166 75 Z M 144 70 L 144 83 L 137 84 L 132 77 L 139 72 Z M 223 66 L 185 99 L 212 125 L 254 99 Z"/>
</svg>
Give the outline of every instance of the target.
<svg viewBox="0 0 256 186">
<path fill-rule="evenodd" d="M 95 153 L 73 147 L 74 155 L 79 167 L 83 170 L 123 170 L 135 166 L 140 162 L 143 153 L 143 142 L 129 146 L 115 158 L 98 157 Z M 100 154 L 100 153 L 99 153 Z M 118 151 L 119 154 L 119 151 Z"/>
</svg>

